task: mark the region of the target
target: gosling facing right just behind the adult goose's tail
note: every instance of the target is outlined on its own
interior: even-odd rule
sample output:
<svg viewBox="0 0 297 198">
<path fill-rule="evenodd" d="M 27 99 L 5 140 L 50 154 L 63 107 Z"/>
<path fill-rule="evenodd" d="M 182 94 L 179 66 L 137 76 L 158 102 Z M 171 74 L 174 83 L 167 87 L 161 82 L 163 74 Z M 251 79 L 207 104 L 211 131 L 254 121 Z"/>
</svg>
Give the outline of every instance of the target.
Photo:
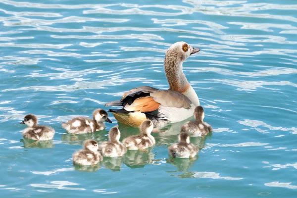
<svg viewBox="0 0 297 198">
<path fill-rule="evenodd" d="M 112 123 L 108 118 L 108 113 L 99 108 L 94 111 L 93 120 L 87 117 L 75 117 L 66 123 L 62 123 L 62 127 L 74 134 L 95 133 L 105 128 L 103 122 Z"/>
</svg>

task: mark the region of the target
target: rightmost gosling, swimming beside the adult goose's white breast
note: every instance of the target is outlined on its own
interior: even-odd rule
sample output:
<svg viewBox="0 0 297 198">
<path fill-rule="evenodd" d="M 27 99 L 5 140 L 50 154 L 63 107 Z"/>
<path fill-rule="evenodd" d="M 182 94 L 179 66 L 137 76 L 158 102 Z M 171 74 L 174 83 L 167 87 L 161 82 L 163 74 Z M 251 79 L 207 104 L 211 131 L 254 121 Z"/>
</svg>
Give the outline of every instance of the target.
<svg viewBox="0 0 297 198">
<path fill-rule="evenodd" d="M 195 121 L 186 122 L 181 128 L 181 132 L 188 133 L 190 136 L 207 135 L 212 131 L 212 127 L 206 122 L 203 122 L 204 115 L 203 107 L 197 106 L 194 111 Z"/>
</svg>

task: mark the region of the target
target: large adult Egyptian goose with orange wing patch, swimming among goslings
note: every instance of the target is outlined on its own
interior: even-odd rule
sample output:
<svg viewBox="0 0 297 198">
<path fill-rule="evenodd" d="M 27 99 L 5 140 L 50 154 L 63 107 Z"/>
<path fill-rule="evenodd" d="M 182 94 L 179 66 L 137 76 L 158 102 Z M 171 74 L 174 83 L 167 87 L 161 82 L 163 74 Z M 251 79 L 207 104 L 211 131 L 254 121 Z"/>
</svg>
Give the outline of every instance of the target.
<svg viewBox="0 0 297 198">
<path fill-rule="evenodd" d="M 177 42 L 167 49 L 164 70 L 169 90 L 143 86 L 124 93 L 118 101 L 105 106 L 122 106 L 121 109 L 109 109 L 120 123 L 139 127 L 147 119 L 154 126 L 174 123 L 193 116 L 199 99 L 189 84 L 184 72 L 183 62 L 192 54 L 200 51 L 185 42 Z"/>
</svg>

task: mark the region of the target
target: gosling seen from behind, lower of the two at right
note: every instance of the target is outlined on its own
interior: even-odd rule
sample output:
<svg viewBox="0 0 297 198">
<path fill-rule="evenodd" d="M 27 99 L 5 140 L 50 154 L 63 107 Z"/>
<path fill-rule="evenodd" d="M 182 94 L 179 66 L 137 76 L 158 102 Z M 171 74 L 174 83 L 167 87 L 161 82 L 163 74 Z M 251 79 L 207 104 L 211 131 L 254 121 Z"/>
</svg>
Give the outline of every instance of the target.
<svg viewBox="0 0 297 198">
<path fill-rule="evenodd" d="M 190 143 L 189 134 L 180 133 L 178 135 L 178 143 L 174 143 L 168 147 L 168 151 L 172 157 L 193 158 L 197 155 L 198 148 Z"/>
</svg>

